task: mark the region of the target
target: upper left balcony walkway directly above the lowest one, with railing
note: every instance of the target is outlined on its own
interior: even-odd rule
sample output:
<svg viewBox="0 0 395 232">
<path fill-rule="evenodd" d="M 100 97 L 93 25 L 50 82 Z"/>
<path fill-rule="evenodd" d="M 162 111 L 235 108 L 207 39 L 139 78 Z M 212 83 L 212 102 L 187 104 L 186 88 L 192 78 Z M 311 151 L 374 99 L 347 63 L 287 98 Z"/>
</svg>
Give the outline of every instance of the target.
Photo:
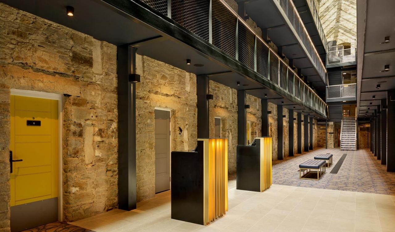
<svg viewBox="0 0 395 232">
<path fill-rule="evenodd" d="M 314 88 L 324 90 L 327 73 L 324 62 L 310 38 L 292 0 L 237 0 L 267 36 L 282 49 Z"/>
</svg>

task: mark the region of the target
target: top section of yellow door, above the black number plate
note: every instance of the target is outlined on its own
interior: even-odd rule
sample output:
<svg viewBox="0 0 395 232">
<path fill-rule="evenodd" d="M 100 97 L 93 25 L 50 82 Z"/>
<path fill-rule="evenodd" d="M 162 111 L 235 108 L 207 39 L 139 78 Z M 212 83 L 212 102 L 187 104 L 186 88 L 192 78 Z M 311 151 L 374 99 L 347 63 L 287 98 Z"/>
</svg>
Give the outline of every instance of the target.
<svg viewBox="0 0 395 232">
<path fill-rule="evenodd" d="M 15 96 L 15 110 L 51 112 L 51 100 L 43 98 Z"/>
</svg>

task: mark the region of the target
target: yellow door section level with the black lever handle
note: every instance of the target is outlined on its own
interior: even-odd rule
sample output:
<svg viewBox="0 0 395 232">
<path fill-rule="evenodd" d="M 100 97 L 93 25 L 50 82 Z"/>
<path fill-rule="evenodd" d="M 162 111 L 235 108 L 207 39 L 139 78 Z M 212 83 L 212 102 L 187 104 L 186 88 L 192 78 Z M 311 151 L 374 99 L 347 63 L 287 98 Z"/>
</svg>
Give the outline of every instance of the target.
<svg viewBox="0 0 395 232">
<path fill-rule="evenodd" d="M 15 143 L 14 157 L 23 159 L 22 162 L 15 163 L 15 168 L 51 165 L 51 143 Z"/>
</svg>

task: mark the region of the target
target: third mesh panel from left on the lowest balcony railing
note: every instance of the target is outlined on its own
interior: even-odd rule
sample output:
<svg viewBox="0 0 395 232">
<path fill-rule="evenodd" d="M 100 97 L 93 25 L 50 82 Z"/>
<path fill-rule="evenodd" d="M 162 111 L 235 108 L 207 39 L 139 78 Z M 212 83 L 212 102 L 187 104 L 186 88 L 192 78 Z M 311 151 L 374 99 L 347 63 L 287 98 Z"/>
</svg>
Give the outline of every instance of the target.
<svg viewBox="0 0 395 232">
<path fill-rule="evenodd" d="M 213 45 L 236 58 L 237 17 L 219 1 L 213 0 Z"/>
</svg>

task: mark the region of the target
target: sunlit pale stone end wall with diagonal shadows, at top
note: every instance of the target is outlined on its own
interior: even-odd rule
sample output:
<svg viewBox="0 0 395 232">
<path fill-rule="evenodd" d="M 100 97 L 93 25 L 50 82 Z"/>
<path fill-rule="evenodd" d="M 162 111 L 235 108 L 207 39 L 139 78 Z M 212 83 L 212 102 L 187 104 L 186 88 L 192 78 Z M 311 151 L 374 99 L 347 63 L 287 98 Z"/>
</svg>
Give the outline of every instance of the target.
<svg viewBox="0 0 395 232">
<path fill-rule="evenodd" d="M 354 45 L 357 35 L 357 0 L 322 0 L 319 8 L 327 41 L 335 40 L 338 45 Z"/>
</svg>

